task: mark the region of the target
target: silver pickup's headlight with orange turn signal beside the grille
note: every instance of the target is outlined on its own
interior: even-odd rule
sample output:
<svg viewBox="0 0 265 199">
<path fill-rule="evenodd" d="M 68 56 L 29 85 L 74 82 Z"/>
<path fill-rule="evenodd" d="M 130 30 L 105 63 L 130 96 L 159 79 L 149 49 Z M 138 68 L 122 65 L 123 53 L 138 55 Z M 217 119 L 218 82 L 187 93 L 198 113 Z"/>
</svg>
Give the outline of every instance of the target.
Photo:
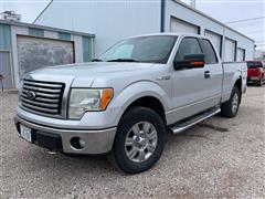
<svg viewBox="0 0 265 199">
<path fill-rule="evenodd" d="M 85 112 L 104 111 L 112 98 L 112 88 L 72 88 L 68 105 L 68 117 L 81 118 Z"/>
</svg>

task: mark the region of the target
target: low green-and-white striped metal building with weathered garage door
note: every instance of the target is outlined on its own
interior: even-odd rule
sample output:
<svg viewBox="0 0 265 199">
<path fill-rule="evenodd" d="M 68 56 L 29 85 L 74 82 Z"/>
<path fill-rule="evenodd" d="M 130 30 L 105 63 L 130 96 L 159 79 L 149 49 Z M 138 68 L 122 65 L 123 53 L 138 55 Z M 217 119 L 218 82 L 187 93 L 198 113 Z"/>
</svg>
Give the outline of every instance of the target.
<svg viewBox="0 0 265 199">
<path fill-rule="evenodd" d="M 91 61 L 94 34 L 0 20 L 3 88 L 18 88 L 24 73 L 43 66 Z"/>
</svg>

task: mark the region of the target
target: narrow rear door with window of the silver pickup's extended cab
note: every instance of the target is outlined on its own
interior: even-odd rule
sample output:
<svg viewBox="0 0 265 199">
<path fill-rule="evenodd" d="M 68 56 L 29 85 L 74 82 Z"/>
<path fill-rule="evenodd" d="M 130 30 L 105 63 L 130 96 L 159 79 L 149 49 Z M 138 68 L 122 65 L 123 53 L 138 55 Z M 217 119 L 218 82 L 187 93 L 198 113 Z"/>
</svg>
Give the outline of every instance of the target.
<svg viewBox="0 0 265 199">
<path fill-rule="evenodd" d="M 223 78 L 223 67 L 221 61 L 219 61 L 218 55 L 210 40 L 200 39 L 200 44 L 202 46 L 203 54 L 205 55 L 204 65 L 204 85 L 208 90 L 208 97 L 211 100 L 211 104 L 219 104 L 222 95 L 222 78 Z M 206 75 L 208 74 L 208 75 Z"/>
</svg>

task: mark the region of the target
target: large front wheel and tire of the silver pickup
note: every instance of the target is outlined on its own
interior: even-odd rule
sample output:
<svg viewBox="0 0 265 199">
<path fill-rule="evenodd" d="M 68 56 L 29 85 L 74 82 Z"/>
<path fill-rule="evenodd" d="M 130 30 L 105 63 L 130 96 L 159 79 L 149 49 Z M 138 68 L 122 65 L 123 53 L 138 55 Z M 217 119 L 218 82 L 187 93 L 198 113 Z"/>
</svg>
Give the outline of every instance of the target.
<svg viewBox="0 0 265 199">
<path fill-rule="evenodd" d="M 132 107 L 118 125 L 108 159 L 127 174 L 148 170 L 159 160 L 165 138 L 166 125 L 156 112 L 146 107 Z"/>
</svg>

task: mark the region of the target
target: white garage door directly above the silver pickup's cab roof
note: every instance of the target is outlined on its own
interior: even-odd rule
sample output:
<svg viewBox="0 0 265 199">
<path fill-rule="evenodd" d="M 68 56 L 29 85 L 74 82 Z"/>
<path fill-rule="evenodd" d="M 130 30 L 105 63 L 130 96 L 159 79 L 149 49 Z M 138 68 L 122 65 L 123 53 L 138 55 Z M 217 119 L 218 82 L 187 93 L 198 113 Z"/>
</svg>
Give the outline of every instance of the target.
<svg viewBox="0 0 265 199">
<path fill-rule="evenodd" d="M 187 33 L 198 34 L 199 33 L 199 27 L 171 17 L 171 19 L 170 19 L 170 32 L 187 32 Z"/>
</svg>

